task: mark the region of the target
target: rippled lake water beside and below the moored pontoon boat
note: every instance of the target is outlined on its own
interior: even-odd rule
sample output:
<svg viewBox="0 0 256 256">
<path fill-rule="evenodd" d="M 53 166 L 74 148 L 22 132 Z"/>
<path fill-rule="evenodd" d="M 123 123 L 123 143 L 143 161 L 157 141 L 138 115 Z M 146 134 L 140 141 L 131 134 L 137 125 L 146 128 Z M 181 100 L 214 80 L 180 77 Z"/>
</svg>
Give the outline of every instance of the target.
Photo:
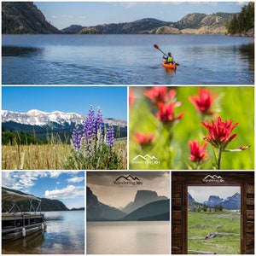
<svg viewBox="0 0 256 256">
<path fill-rule="evenodd" d="M 47 229 L 2 246 L 3 254 L 84 254 L 84 211 L 45 212 Z"/>
</svg>

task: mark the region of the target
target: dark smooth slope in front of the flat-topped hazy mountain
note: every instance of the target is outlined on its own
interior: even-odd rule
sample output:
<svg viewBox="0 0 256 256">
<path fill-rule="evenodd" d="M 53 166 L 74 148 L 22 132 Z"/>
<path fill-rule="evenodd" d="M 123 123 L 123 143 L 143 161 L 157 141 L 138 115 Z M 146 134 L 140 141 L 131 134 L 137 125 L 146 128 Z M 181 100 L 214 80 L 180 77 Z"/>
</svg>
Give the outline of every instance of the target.
<svg viewBox="0 0 256 256">
<path fill-rule="evenodd" d="M 169 220 L 170 200 L 150 202 L 143 207 L 127 214 L 123 220 Z"/>
</svg>

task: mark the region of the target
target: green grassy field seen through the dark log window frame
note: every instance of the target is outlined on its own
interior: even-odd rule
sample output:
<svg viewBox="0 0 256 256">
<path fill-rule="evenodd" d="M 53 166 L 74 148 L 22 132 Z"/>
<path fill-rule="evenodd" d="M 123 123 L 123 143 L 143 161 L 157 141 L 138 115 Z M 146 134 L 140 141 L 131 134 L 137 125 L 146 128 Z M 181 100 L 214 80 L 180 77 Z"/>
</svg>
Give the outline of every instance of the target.
<svg viewBox="0 0 256 256">
<path fill-rule="evenodd" d="M 189 212 L 188 250 L 216 254 L 240 254 L 241 215 L 240 212 Z M 210 239 L 210 233 L 219 235 Z"/>
</svg>

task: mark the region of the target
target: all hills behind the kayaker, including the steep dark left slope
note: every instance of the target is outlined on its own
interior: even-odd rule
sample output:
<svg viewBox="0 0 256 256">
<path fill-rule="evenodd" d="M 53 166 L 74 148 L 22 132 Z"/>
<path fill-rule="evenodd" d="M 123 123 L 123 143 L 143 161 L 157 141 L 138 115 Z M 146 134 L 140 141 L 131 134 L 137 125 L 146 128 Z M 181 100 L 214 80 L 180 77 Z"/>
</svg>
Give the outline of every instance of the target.
<svg viewBox="0 0 256 256">
<path fill-rule="evenodd" d="M 225 24 L 234 14 L 200 13 L 185 15 L 177 22 L 145 18 L 124 23 L 97 26 L 72 25 L 61 31 L 45 20 L 32 2 L 3 2 L 2 33 L 80 33 L 80 34 L 172 34 L 225 33 Z"/>
</svg>

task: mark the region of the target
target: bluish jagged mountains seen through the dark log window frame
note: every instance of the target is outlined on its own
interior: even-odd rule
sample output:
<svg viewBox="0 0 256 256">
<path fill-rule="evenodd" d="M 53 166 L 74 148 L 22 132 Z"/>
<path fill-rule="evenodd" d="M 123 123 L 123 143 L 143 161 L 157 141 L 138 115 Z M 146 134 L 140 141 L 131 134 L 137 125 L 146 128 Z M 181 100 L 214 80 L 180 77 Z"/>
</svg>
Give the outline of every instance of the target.
<svg viewBox="0 0 256 256">
<path fill-rule="evenodd" d="M 189 203 L 197 203 L 192 195 L 188 193 Z M 241 207 L 241 195 L 236 193 L 227 197 L 226 199 L 220 198 L 218 195 L 210 195 L 207 201 L 203 202 L 208 207 L 222 206 L 227 210 L 239 210 Z"/>
</svg>

